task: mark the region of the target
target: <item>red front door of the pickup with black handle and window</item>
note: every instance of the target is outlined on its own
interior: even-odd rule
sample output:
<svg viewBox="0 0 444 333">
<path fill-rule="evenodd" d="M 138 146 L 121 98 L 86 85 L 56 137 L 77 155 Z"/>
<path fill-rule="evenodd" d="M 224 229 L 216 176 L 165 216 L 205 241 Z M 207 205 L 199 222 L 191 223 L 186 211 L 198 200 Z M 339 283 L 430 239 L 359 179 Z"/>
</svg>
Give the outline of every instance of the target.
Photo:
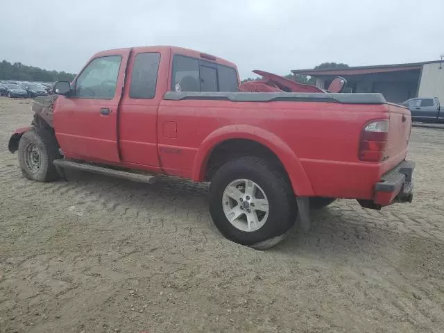
<svg viewBox="0 0 444 333">
<path fill-rule="evenodd" d="M 96 55 L 77 76 L 71 95 L 56 100 L 54 128 L 65 156 L 120 161 L 117 109 L 129 51 Z"/>
</svg>

